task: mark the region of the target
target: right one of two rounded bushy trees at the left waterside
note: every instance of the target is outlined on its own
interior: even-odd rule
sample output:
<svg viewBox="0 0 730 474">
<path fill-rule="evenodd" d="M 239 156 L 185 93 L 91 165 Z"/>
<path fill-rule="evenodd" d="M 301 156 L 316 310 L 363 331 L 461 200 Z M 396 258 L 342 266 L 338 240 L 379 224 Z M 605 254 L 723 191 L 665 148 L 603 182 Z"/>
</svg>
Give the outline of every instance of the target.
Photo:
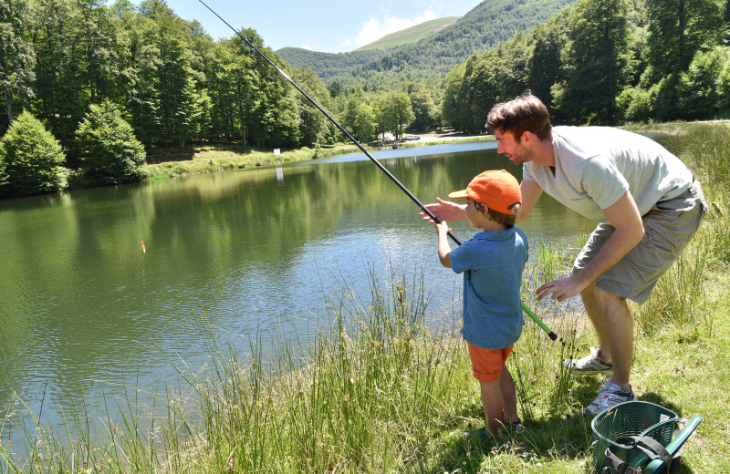
<svg viewBox="0 0 730 474">
<path fill-rule="evenodd" d="M 76 132 L 79 158 L 92 184 L 140 180 L 145 153 L 130 124 L 110 100 L 91 104 Z"/>
</svg>

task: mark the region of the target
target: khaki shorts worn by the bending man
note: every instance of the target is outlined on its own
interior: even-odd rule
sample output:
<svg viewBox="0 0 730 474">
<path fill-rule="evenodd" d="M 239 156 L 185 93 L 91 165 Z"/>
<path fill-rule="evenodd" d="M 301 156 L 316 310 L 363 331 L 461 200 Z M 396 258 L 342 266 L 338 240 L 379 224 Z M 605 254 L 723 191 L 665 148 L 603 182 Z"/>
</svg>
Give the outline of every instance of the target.
<svg viewBox="0 0 730 474">
<path fill-rule="evenodd" d="M 684 250 L 707 210 L 699 181 L 669 200 L 659 201 L 641 221 L 644 236 L 618 263 L 596 279 L 596 286 L 638 304 L 652 294 L 654 285 Z M 600 251 L 615 229 L 600 223 L 573 263 L 573 273 L 585 268 Z"/>
</svg>

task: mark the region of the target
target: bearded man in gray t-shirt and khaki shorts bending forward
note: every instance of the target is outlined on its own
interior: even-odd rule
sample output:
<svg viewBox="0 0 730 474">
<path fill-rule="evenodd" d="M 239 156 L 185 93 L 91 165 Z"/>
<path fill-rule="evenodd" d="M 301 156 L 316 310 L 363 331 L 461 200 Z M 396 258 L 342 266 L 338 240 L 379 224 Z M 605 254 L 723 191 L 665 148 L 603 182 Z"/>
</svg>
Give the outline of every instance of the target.
<svg viewBox="0 0 730 474">
<path fill-rule="evenodd" d="M 635 400 L 629 383 L 633 321 L 626 300 L 644 303 L 697 231 L 707 209 L 700 183 L 652 139 L 601 127 L 553 129 L 547 108 L 529 92 L 496 104 L 486 127 L 495 134 L 497 152 L 523 166 L 517 222 L 527 218 L 543 191 L 599 222 L 572 274 L 537 288 L 537 298 L 550 295 L 561 302 L 580 294 L 596 330 L 598 350 L 564 361 L 579 374 L 611 375 L 586 415 Z M 427 207 L 443 221 L 464 218 L 463 206 L 454 202 Z"/>
</svg>

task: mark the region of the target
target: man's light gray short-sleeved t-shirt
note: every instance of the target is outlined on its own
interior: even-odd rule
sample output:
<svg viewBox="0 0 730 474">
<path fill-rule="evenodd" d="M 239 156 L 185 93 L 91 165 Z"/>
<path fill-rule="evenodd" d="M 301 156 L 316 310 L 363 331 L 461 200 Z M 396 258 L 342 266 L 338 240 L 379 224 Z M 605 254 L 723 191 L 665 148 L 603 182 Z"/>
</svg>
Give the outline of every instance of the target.
<svg viewBox="0 0 730 474">
<path fill-rule="evenodd" d="M 658 201 L 673 199 L 692 185 L 692 171 L 652 139 L 609 127 L 553 128 L 555 174 L 528 161 L 523 180 L 537 182 L 566 207 L 595 222 L 603 210 L 631 191 L 644 215 Z"/>
</svg>

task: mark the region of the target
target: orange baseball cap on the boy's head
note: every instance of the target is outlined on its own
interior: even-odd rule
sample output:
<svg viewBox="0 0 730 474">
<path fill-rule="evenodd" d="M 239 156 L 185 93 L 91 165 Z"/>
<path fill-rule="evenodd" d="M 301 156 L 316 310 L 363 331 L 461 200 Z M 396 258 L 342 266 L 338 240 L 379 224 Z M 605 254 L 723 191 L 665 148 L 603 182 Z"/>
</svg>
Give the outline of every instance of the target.
<svg viewBox="0 0 730 474">
<path fill-rule="evenodd" d="M 509 206 L 522 203 L 522 194 L 516 178 L 506 170 L 488 170 L 477 175 L 462 191 L 449 193 L 451 199 L 472 198 L 503 214 L 514 214 Z"/>
</svg>

